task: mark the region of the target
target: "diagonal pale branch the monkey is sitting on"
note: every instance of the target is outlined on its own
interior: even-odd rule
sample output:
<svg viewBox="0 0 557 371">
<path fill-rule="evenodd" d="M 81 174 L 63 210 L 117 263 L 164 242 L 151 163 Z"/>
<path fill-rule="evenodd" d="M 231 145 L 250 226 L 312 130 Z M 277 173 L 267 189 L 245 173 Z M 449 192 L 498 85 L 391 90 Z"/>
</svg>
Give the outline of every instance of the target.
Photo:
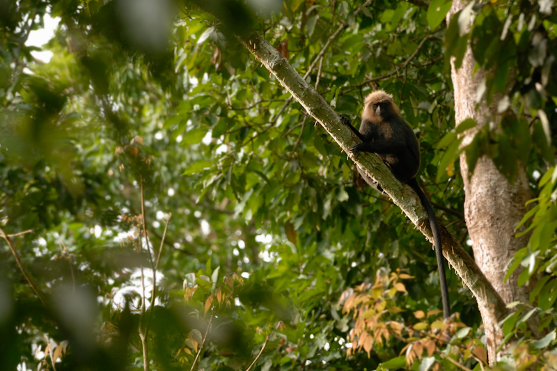
<svg viewBox="0 0 557 371">
<path fill-rule="evenodd" d="M 191 0 L 200 8 L 217 17 L 219 21 L 226 22 L 226 19 L 219 18 L 218 9 L 219 1 L 202 1 Z M 217 8 L 215 8 L 215 6 Z M 230 30 L 233 30 L 231 27 Z M 329 133 L 340 148 L 347 153 L 347 156 L 354 163 L 362 168 L 367 175 L 379 182 L 380 186 L 386 194 L 391 197 L 393 202 L 398 205 L 408 216 L 410 221 L 432 241 L 432 232 L 430 224 L 427 221 L 427 214 L 421 205 L 418 195 L 406 184 L 400 183 L 393 177 L 391 171 L 379 160 L 376 155 L 369 153 L 352 154 L 349 148 L 354 144 L 356 136 L 345 125 L 340 122 L 337 113 L 327 104 L 324 98 L 317 93 L 317 90 L 310 86 L 286 59 L 279 54 L 272 45 L 270 45 L 256 31 L 246 30 L 238 31 L 235 29 L 235 37 L 240 40 L 242 45 L 255 56 L 265 68 L 272 72 L 276 79 L 288 92 L 292 94 L 303 106 L 309 115 L 311 115 L 317 123 Z M 487 281 L 482 271 L 471 256 L 466 253 L 460 242 L 450 235 L 448 230 L 438 221 L 441 229 L 441 239 L 443 241 L 443 253 L 449 264 L 462 279 L 464 285 L 476 297 L 478 303 L 485 308 L 492 310 L 495 317 L 504 319 L 509 313 L 503 299 L 494 287 Z"/>
</svg>

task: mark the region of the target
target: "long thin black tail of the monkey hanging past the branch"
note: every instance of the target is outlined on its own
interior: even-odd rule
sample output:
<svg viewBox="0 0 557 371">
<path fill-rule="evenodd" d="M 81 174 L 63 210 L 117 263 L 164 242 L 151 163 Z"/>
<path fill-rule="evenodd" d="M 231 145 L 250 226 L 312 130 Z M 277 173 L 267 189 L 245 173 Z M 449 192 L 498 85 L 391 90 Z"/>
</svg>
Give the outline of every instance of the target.
<svg viewBox="0 0 557 371">
<path fill-rule="evenodd" d="M 441 247 L 441 233 L 439 232 L 439 224 L 437 224 L 437 218 L 435 217 L 435 212 L 427 199 L 427 196 L 423 193 L 422 189 L 418 185 L 418 181 L 414 179 L 408 182 L 408 185 L 416 191 L 421 203 L 427 212 L 427 218 L 430 219 L 430 228 L 433 234 L 433 242 L 435 245 L 435 255 L 437 256 L 437 269 L 439 270 L 439 283 L 441 285 L 441 301 L 443 302 L 443 316 L 448 318 L 450 316 L 450 306 L 448 301 L 448 288 L 447 279 L 445 276 L 445 258 L 443 256 L 443 250 Z"/>
</svg>

